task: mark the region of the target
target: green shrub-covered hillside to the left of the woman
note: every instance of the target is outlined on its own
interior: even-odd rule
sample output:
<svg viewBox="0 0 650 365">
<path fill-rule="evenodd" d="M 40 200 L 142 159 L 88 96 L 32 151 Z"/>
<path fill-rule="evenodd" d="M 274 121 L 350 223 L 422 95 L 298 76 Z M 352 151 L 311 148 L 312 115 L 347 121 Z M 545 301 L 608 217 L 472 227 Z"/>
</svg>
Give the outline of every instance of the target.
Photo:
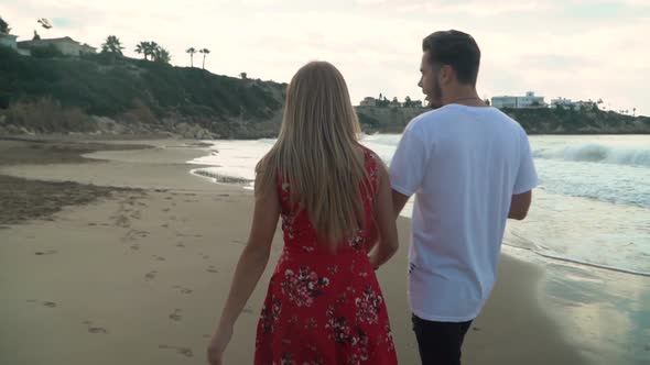
<svg viewBox="0 0 650 365">
<path fill-rule="evenodd" d="M 6 130 L 91 132 L 113 123 L 124 133 L 194 128 L 218 137 L 273 135 L 286 87 L 102 54 L 24 57 L 6 47 L 0 80 Z"/>
</svg>

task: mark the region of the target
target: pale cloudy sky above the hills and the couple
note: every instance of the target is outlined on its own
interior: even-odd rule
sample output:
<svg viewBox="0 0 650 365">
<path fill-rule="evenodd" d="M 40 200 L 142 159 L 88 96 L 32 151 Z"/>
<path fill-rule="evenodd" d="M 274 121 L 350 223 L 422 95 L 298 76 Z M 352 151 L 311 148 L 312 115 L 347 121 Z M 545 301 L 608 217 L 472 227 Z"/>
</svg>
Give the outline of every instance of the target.
<svg viewBox="0 0 650 365">
<path fill-rule="evenodd" d="M 0 16 L 19 41 L 37 30 L 99 47 L 112 34 L 132 57 L 155 41 L 176 66 L 189 66 L 188 47 L 208 48 L 206 68 L 220 75 L 289 82 L 328 60 L 355 104 L 423 99 L 422 38 L 456 29 L 481 48 L 481 97 L 534 91 L 650 115 L 650 0 L 0 0 Z"/>
</svg>

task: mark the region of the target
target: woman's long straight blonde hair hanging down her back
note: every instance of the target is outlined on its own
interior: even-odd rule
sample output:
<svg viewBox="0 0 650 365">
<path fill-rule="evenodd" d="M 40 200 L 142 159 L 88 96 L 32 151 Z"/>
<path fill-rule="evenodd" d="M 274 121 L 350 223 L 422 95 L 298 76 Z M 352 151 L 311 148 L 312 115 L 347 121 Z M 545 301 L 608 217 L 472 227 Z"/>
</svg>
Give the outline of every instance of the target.
<svg viewBox="0 0 650 365">
<path fill-rule="evenodd" d="M 365 224 L 360 132 L 343 75 L 329 63 L 312 62 L 291 79 L 278 142 L 257 166 L 263 187 L 275 188 L 278 174 L 290 182 L 291 203 L 300 203 L 331 246 Z"/>
</svg>

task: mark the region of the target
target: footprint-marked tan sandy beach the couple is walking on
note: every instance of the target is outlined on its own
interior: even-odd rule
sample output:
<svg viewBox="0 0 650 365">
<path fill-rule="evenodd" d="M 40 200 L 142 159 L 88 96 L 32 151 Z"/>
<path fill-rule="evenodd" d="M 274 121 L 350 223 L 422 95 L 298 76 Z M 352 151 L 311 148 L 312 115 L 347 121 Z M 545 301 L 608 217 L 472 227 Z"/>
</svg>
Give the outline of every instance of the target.
<svg viewBox="0 0 650 365">
<path fill-rule="evenodd" d="M 124 144 L 137 150 L 119 151 Z M 0 196 L 0 364 L 205 364 L 248 236 L 252 192 L 191 175 L 195 166 L 185 163 L 206 152 L 188 141 L 33 145 L 0 141 L 13 156 L 0 158 L 0 184 L 12 191 Z M 405 295 L 407 219 L 399 230 L 399 254 L 378 275 L 400 363 L 419 364 Z M 227 364 L 252 363 L 280 233 Z M 585 363 L 540 305 L 542 275 L 502 256 L 464 364 Z"/>
</svg>

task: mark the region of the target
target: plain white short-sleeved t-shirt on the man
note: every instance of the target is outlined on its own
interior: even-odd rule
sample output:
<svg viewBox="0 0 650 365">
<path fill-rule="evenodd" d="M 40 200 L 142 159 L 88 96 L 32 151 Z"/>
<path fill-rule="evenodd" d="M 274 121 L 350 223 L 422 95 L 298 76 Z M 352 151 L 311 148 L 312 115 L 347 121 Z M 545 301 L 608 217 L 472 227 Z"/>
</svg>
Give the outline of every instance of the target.
<svg viewBox="0 0 650 365">
<path fill-rule="evenodd" d="M 448 104 L 413 119 L 390 164 L 415 193 L 409 299 L 424 320 L 474 320 L 489 297 L 512 195 L 538 185 L 526 132 L 495 108 Z"/>
</svg>

